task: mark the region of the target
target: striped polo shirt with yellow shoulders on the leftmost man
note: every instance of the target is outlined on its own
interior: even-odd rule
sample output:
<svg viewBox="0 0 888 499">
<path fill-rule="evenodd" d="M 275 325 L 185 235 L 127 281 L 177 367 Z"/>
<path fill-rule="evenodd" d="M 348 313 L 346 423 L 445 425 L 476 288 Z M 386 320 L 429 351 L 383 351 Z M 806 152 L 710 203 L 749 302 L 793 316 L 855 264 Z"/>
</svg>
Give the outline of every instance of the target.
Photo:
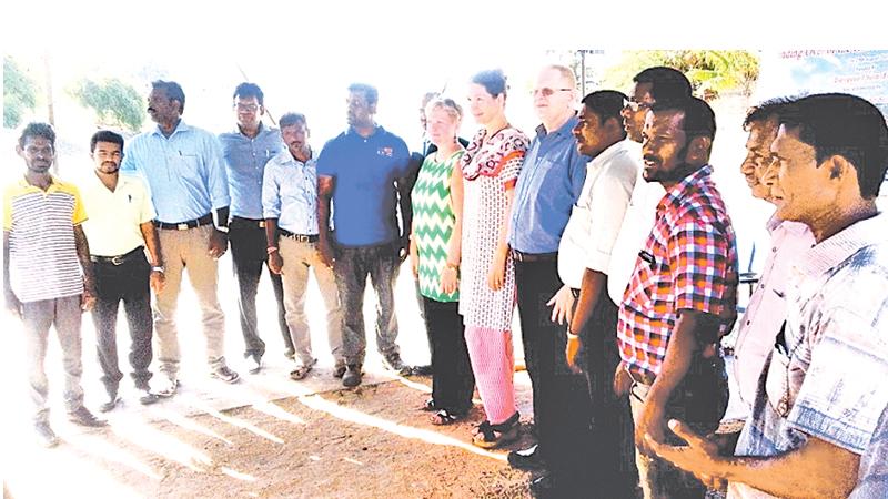
<svg viewBox="0 0 888 499">
<path fill-rule="evenodd" d="M 87 220 L 73 184 L 52 177 L 47 191 L 23 177 L 3 191 L 9 277 L 22 303 L 83 293 L 74 225 Z"/>
</svg>

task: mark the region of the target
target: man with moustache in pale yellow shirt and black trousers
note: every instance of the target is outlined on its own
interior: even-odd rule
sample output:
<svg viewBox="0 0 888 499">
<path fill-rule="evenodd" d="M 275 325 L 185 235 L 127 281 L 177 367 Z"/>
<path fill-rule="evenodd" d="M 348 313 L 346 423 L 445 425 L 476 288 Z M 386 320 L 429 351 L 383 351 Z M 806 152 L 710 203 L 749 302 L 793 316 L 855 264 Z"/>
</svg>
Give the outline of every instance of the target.
<svg viewBox="0 0 888 499">
<path fill-rule="evenodd" d="M 90 218 L 83 231 L 90 244 L 90 259 L 95 275 L 95 346 L 102 367 L 102 384 L 108 399 L 100 409 L 113 409 L 120 400 L 118 388 L 123 374 L 118 364 L 118 307 L 123 302 L 130 326 L 130 366 L 139 391 L 139 401 L 152 404 L 157 395 L 149 390 L 151 371 L 151 288 L 163 288 L 163 259 L 158 231 L 152 221 L 154 208 L 142 181 L 119 173 L 123 160 L 123 136 L 100 130 L 90 140 L 90 156 L 95 166 L 82 185 L 83 205 Z M 148 248 L 149 258 L 145 258 Z"/>
</svg>

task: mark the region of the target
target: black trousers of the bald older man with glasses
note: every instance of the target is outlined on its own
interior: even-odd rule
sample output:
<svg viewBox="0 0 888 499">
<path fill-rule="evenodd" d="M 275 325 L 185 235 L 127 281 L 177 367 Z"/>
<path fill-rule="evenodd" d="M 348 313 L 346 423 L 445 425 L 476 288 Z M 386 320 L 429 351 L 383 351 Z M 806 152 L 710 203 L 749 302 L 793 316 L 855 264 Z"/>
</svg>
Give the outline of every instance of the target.
<svg viewBox="0 0 888 499">
<path fill-rule="evenodd" d="M 567 367 L 566 326 L 552 322 L 546 305 L 562 287 L 556 261 L 515 262 L 515 283 L 524 358 L 534 389 L 537 451 L 543 452 L 549 472 L 562 482 L 577 482 L 575 489 L 582 490 L 593 445 L 589 397 L 586 379 Z"/>
</svg>

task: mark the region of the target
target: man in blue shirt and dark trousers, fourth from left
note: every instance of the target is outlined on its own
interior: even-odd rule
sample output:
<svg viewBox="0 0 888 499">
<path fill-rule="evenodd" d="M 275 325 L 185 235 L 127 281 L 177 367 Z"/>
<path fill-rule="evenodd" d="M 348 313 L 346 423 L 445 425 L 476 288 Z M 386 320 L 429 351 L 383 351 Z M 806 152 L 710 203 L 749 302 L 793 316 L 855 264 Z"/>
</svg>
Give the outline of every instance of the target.
<svg viewBox="0 0 888 499">
<path fill-rule="evenodd" d="M 265 342 L 256 325 L 256 289 L 266 264 L 265 221 L 262 215 L 262 175 L 265 164 L 285 151 L 278 130 L 265 126 L 264 93 L 255 83 L 241 83 L 234 89 L 235 130 L 219 135 L 229 177 L 231 222 L 229 242 L 234 279 L 238 282 L 238 309 L 241 314 L 244 353 L 250 373 L 259 373 Z M 293 358 L 293 342 L 286 327 L 281 276 L 269 272 L 278 299 L 278 325 L 284 338 L 284 355 Z"/>
</svg>

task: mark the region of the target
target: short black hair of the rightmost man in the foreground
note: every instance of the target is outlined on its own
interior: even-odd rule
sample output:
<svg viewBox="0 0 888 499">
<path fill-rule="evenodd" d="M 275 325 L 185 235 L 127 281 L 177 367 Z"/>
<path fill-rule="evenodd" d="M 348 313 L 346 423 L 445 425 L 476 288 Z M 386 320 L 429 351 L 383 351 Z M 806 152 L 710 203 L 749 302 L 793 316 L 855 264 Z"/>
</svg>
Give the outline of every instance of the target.
<svg viewBox="0 0 888 499">
<path fill-rule="evenodd" d="M 851 163 L 864 198 L 879 195 L 888 170 L 888 125 L 872 103 L 847 93 L 808 95 L 793 102 L 780 124 L 798 130 L 818 165 L 834 155 Z"/>
</svg>

